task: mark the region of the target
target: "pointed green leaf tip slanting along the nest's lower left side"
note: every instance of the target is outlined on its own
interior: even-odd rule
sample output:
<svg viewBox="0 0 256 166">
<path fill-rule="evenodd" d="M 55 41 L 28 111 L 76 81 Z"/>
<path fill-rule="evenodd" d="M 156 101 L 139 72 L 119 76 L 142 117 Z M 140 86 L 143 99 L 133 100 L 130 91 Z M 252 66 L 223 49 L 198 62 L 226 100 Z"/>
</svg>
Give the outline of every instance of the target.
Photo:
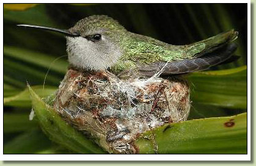
<svg viewBox="0 0 256 166">
<path fill-rule="evenodd" d="M 83 154 L 106 153 L 92 140 L 76 131 L 51 108 L 46 105 L 40 97 L 29 87 L 31 93 L 32 108 L 38 118 L 42 130 L 51 140 L 64 147 Z"/>
</svg>

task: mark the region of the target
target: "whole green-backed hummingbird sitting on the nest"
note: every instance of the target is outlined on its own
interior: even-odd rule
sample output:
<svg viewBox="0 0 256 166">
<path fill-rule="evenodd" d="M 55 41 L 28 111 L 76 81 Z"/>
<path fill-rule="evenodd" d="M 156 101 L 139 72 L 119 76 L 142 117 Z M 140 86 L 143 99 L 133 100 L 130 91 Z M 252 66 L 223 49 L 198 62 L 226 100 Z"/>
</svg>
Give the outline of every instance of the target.
<svg viewBox="0 0 256 166">
<path fill-rule="evenodd" d="M 32 26 L 60 32 L 67 38 L 68 62 L 82 71 L 110 71 L 116 75 L 138 71 L 152 76 L 203 71 L 237 58 L 232 43 L 238 32 L 229 30 L 206 40 L 177 46 L 149 36 L 129 32 L 118 21 L 105 15 L 93 15 L 76 22 L 70 29 Z"/>
</svg>

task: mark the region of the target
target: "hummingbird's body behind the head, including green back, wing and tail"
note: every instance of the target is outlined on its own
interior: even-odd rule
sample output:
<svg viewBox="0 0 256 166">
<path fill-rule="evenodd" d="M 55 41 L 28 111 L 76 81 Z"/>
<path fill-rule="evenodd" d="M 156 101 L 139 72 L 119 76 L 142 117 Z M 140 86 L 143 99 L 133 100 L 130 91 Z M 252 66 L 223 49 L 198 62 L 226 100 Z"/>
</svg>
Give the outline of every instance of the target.
<svg viewBox="0 0 256 166">
<path fill-rule="evenodd" d="M 130 32 L 129 32 L 130 33 Z M 238 33 L 234 30 L 184 46 L 174 46 L 148 36 L 130 33 L 124 42 L 123 56 L 115 69 L 137 68 L 142 74 L 152 75 L 165 66 L 163 74 L 202 71 L 229 59 L 235 51 Z"/>
</svg>

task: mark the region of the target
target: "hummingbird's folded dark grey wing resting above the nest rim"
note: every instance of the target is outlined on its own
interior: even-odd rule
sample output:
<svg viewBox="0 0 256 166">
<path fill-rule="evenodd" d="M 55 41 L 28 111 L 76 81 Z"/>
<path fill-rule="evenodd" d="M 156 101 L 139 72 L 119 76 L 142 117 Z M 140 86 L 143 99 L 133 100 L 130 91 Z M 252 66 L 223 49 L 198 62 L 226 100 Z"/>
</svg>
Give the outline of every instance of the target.
<svg viewBox="0 0 256 166">
<path fill-rule="evenodd" d="M 188 72 L 203 71 L 211 66 L 223 63 L 232 58 L 233 52 L 236 50 L 236 44 L 226 44 L 218 50 L 214 50 L 208 54 L 192 59 L 183 59 L 176 61 L 158 61 L 148 64 L 147 66 L 139 66 L 141 74 L 152 76 L 156 72 L 161 71 L 162 75 L 184 74 Z"/>
</svg>

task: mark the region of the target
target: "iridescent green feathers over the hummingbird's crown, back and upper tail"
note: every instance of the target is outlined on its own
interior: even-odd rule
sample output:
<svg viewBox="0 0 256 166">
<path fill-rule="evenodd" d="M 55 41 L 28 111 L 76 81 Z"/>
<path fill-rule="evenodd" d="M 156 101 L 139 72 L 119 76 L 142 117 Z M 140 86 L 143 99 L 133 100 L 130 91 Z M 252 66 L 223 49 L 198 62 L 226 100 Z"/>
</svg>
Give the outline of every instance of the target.
<svg viewBox="0 0 256 166">
<path fill-rule="evenodd" d="M 69 29 L 70 32 L 79 33 L 81 36 L 90 35 L 93 30 L 103 32 L 120 49 L 122 56 L 111 67 L 111 71 L 115 74 L 157 62 L 172 63 L 202 57 L 232 42 L 238 35 L 238 32 L 230 30 L 196 43 L 174 46 L 148 36 L 128 32 L 119 22 L 104 15 L 81 19 Z"/>
</svg>

